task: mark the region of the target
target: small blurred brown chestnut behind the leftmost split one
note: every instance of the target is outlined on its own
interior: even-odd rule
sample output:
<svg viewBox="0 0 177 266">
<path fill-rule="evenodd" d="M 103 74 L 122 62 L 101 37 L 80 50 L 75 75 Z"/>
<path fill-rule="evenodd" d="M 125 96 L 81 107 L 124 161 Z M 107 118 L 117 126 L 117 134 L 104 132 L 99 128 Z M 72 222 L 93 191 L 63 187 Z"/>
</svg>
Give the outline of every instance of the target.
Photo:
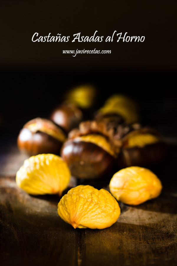
<svg viewBox="0 0 177 266">
<path fill-rule="evenodd" d="M 82 121 L 83 113 L 75 104 L 65 102 L 53 110 L 50 119 L 69 132 Z"/>
</svg>

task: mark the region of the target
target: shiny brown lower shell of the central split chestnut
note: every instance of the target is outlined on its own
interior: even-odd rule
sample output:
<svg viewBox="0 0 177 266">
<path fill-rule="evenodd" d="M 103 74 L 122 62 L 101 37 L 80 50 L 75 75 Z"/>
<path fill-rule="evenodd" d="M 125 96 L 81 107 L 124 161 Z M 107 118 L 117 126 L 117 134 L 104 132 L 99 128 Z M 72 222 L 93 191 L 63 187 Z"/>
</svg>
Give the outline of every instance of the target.
<svg viewBox="0 0 177 266">
<path fill-rule="evenodd" d="M 114 158 L 104 149 L 91 142 L 66 141 L 61 148 L 61 157 L 76 178 L 96 179 L 112 168 Z"/>
</svg>

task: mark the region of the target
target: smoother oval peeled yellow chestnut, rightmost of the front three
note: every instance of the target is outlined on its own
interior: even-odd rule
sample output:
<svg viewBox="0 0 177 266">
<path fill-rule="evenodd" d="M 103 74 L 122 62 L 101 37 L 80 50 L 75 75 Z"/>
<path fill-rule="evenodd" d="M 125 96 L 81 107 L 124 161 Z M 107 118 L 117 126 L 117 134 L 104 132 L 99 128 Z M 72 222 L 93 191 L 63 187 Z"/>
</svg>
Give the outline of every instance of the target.
<svg viewBox="0 0 177 266">
<path fill-rule="evenodd" d="M 139 205 L 160 195 L 160 179 L 149 169 L 131 166 L 114 174 L 109 189 L 119 201 L 129 205 Z"/>
</svg>

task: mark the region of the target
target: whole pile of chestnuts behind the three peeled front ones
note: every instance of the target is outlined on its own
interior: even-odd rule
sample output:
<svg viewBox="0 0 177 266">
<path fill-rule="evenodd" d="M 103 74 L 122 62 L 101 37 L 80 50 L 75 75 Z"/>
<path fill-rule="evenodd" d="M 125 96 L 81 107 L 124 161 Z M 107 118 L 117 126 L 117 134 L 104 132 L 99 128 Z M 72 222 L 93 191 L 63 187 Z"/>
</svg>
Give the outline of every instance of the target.
<svg viewBox="0 0 177 266">
<path fill-rule="evenodd" d="M 155 129 L 141 126 L 135 102 L 112 95 L 92 120 L 84 109 L 93 108 L 96 90 L 74 88 L 53 110 L 50 119 L 27 122 L 19 133 L 19 150 L 29 155 L 60 155 L 79 179 L 96 179 L 114 167 L 150 166 L 163 160 L 165 143 Z M 92 112 L 93 113 L 93 112 Z"/>
</svg>

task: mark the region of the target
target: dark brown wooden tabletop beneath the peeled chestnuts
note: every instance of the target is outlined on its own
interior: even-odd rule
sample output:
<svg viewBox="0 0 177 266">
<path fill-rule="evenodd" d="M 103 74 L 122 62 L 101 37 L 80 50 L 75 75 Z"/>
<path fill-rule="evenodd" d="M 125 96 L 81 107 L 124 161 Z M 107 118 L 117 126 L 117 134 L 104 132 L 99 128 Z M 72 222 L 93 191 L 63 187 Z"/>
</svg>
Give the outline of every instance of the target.
<svg viewBox="0 0 177 266">
<path fill-rule="evenodd" d="M 165 162 L 152 169 L 162 181 L 161 195 L 135 207 L 120 203 L 119 219 L 103 230 L 74 229 L 57 214 L 58 196 L 34 197 L 18 188 L 15 173 L 27 156 L 14 143 L 1 151 L 2 266 L 177 264 L 175 145 L 169 146 Z"/>
</svg>

